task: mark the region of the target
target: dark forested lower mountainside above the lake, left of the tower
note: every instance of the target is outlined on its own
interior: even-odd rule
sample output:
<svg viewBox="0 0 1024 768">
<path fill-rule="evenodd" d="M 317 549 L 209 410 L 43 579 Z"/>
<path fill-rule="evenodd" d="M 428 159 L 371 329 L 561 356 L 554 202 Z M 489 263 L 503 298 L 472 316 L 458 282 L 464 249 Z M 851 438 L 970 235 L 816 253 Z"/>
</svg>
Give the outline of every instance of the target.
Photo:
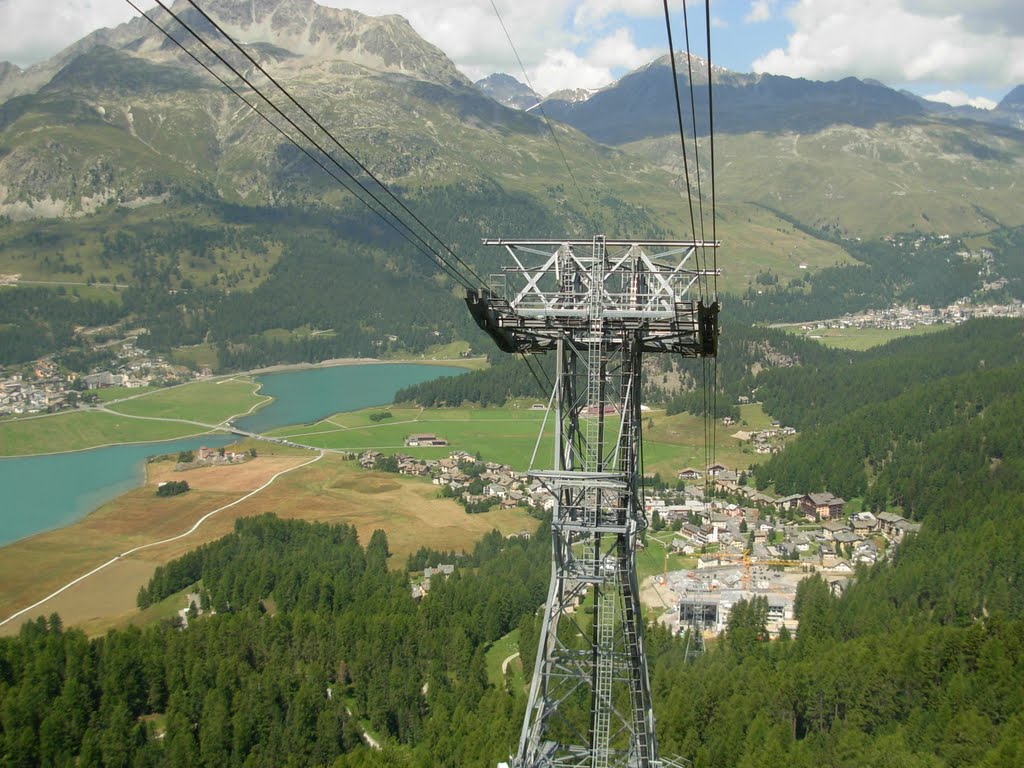
<svg viewBox="0 0 1024 768">
<path fill-rule="evenodd" d="M 101 234 L 93 267 L 105 283 L 127 286 L 112 294 L 118 301 L 5 289 L 0 364 L 84 344 L 72 325 L 129 317 L 146 329 L 139 338 L 143 348 L 167 352 L 210 343 L 228 370 L 420 352 L 476 335 L 461 294 L 432 256 L 358 207 L 246 207 L 202 196 L 177 204 L 179 216 L 119 223 Z M 493 183 L 432 189 L 415 205 L 451 243 L 475 242 L 480 231 L 554 236 L 569 225 L 526 196 Z M 463 216 L 453 218 L 453 210 Z M 633 215 L 642 220 L 642 214 Z M 0 250 L 24 254 L 27 263 L 53 251 L 63 258 L 80 248 L 80 234 L 59 223 L 35 232 L 4 229 Z M 498 255 L 483 250 L 472 258 L 486 274 L 495 266 L 487 258 Z M 80 265 L 82 257 L 73 261 Z M 74 276 L 95 281 L 91 272 Z M 16 335 L 15 327 L 22 331 Z"/>
</svg>

